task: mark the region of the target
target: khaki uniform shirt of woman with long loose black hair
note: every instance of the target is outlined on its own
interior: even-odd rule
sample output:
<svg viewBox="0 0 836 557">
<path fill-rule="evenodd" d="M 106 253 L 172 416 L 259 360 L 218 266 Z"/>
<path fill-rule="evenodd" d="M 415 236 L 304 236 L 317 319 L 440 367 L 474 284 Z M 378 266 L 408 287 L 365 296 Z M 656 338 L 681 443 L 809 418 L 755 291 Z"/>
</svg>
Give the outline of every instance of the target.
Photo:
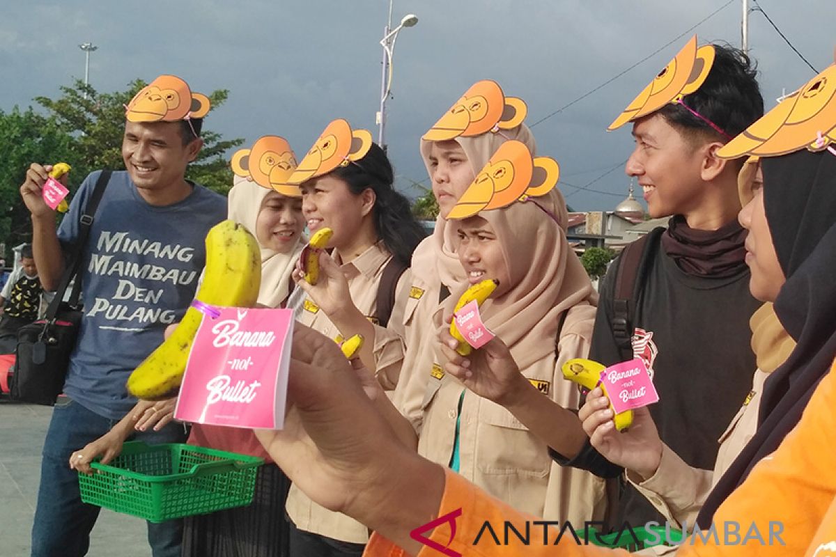
<svg viewBox="0 0 836 557">
<path fill-rule="evenodd" d="M 339 254 L 335 254 L 339 262 Z M 366 316 L 374 316 L 377 309 L 377 288 L 383 270 L 391 259 L 390 253 L 382 243 L 370 247 L 350 263 L 341 266 L 349 281 L 351 300 Z M 385 389 L 394 389 L 400 364 L 404 357 L 403 334 L 404 306 L 408 299 L 410 271 L 407 269 L 398 281 L 395 293 L 395 307 L 389 320 L 389 327 L 375 324 L 375 373 Z M 330 338 L 336 338 L 340 331 L 334 326 L 324 311 L 321 311 L 310 298 L 303 303 L 303 311 L 298 322 L 312 327 Z M 345 332 L 349 336 L 350 332 Z M 364 544 L 369 540 L 369 530 L 354 519 L 341 513 L 334 513 L 315 504 L 308 496 L 291 486 L 286 507 L 290 519 L 298 529 L 314 534 L 328 536 L 355 544 Z"/>
</svg>

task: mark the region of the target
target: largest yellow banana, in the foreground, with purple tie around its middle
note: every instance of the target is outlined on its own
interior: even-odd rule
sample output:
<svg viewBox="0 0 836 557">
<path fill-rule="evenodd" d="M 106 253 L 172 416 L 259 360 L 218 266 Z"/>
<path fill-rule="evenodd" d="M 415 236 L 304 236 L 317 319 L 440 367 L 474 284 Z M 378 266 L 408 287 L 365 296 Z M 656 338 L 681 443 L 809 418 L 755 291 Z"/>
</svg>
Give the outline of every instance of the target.
<svg viewBox="0 0 836 557">
<path fill-rule="evenodd" d="M 261 286 L 261 251 L 242 225 L 224 220 L 206 235 L 206 271 L 196 300 L 209 306 L 252 307 Z M 128 391 L 145 400 L 170 397 L 180 387 L 191 343 L 203 314 L 194 307 L 145 361 L 130 374 Z"/>
</svg>

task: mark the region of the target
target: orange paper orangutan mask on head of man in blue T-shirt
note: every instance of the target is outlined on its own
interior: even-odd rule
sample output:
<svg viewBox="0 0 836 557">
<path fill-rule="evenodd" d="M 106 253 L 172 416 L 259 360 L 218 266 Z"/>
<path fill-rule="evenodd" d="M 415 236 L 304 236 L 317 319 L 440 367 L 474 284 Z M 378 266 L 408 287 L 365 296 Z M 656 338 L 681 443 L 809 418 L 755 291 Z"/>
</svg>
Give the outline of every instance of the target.
<svg viewBox="0 0 836 557">
<path fill-rule="evenodd" d="M 176 75 L 161 75 L 130 100 L 125 118 L 129 122 L 176 122 L 203 118 L 209 112 L 209 98 L 192 93 Z"/>
</svg>

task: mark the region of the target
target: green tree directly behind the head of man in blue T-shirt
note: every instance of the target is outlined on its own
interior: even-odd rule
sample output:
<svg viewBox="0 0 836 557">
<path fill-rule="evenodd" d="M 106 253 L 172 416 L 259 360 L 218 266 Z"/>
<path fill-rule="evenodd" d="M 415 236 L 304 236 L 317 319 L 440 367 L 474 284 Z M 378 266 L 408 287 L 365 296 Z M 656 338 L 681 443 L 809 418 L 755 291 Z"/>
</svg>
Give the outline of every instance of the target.
<svg viewBox="0 0 836 557">
<path fill-rule="evenodd" d="M 125 104 L 134 98 L 145 82 L 137 79 L 125 91 L 99 93 L 90 85 L 76 80 L 73 87 L 61 87 L 58 99 L 36 97 L 35 102 L 47 110 L 59 129 L 74 141 L 71 182 L 80 183 L 93 170 L 110 168 L 124 170 L 122 162 L 122 134 L 125 130 Z M 227 89 L 209 94 L 212 110 L 221 106 L 229 95 Z M 209 113 L 211 120 L 212 113 Z M 204 127 L 201 131 L 204 146 L 197 160 L 189 165 L 186 177 L 206 185 L 224 195 L 232 187 L 232 170 L 224 154 L 243 143 L 243 139 L 222 139 L 221 134 Z M 54 157 L 42 159 L 56 161 Z M 74 164 L 75 163 L 75 164 Z"/>
</svg>

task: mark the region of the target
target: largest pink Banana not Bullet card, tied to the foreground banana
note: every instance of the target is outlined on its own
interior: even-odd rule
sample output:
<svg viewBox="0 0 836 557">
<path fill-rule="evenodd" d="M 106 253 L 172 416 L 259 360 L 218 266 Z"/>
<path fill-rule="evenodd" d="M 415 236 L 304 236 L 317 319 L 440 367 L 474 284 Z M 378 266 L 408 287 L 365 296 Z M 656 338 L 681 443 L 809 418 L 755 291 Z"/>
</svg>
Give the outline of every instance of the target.
<svg viewBox="0 0 836 557">
<path fill-rule="evenodd" d="M 174 417 L 181 422 L 281 429 L 293 310 L 218 307 L 203 316 Z"/>
</svg>

